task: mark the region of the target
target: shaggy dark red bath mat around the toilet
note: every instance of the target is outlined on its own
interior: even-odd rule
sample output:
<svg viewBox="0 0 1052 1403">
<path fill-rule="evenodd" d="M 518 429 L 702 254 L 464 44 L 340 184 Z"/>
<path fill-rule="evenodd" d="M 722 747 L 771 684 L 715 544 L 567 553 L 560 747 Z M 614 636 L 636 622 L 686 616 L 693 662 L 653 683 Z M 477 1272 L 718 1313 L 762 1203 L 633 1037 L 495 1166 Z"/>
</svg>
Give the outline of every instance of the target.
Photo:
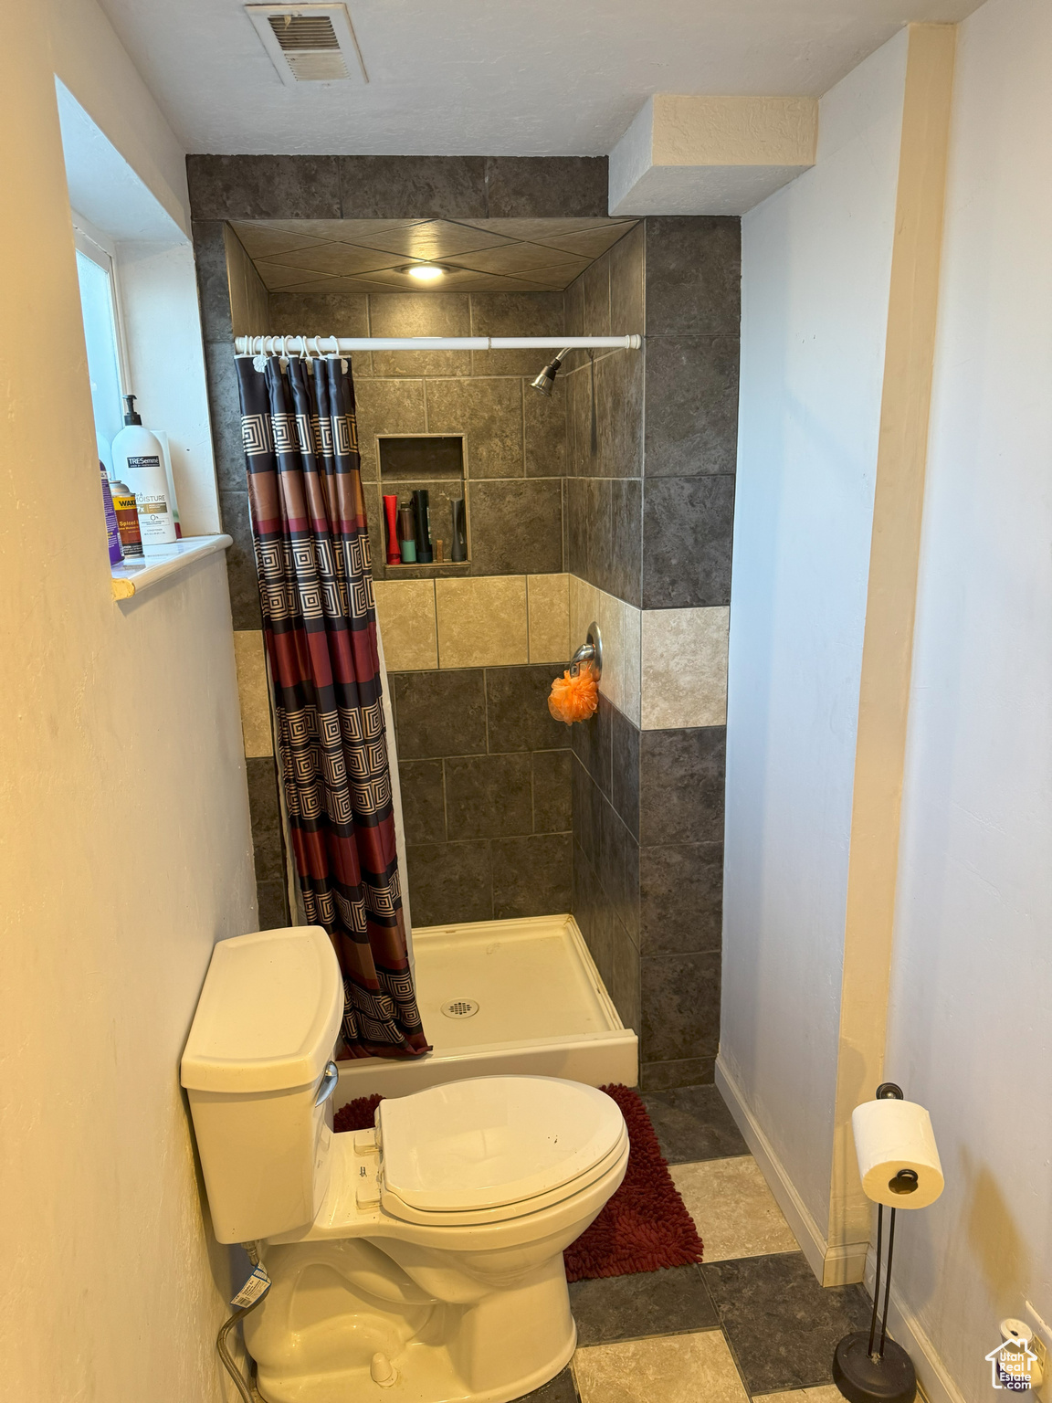
<svg viewBox="0 0 1052 1403">
<path fill-rule="evenodd" d="M 701 1239 L 672 1183 L 647 1107 L 631 1087 L 602 1090 L 617 1101 L 628 1127 L 628 1167 L 610 1202 L 562 1254 L 567 1281 L 627 1277 L 701 1261 Z M 382 1100 L 360 1096 L 348 1103 L 337 1111 L 335 1128 L 367 1129 Z"/>
</svg>

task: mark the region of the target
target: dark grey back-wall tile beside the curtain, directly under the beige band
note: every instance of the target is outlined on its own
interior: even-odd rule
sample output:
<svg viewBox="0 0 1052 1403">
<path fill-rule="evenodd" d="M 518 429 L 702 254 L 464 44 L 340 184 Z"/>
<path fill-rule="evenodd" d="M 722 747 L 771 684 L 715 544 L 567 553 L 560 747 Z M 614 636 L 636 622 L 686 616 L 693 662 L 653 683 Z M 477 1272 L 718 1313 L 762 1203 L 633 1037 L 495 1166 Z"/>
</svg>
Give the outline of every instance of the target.
<svg viewBox="0 0 1052 1403">
<path fill-rule="evenodd" d="M 485 752 L 481 669 L 394 672 L 398 756 L 407 760 Z"/>
</svg>

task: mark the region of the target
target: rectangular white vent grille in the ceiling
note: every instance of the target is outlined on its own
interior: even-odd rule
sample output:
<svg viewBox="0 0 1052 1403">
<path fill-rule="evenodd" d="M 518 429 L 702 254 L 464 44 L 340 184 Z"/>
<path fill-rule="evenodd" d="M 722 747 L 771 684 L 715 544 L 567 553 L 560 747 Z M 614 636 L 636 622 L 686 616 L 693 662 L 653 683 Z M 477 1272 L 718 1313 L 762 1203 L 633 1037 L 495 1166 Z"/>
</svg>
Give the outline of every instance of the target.
<svg viewBox="0 0 1052 1403">
<path fill-rule="evenodd" d="M 346 6 L 247 4 L 245 13 L 286 87 L 369 81 Z"/>
</svg>

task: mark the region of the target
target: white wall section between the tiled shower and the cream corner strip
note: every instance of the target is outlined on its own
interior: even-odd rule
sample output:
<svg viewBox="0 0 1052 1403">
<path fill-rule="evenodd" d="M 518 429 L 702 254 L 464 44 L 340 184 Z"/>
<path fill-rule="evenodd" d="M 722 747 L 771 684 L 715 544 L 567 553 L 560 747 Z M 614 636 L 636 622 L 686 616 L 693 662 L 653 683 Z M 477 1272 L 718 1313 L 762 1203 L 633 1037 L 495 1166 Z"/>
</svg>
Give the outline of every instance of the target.
<svg viewBox="0 0 1052 1403">
<path fill-rule="evenodd" d="M 903 32 L 742 219 L 721 1062 L 821 1232 L 905 72 Z"/>
</svg>

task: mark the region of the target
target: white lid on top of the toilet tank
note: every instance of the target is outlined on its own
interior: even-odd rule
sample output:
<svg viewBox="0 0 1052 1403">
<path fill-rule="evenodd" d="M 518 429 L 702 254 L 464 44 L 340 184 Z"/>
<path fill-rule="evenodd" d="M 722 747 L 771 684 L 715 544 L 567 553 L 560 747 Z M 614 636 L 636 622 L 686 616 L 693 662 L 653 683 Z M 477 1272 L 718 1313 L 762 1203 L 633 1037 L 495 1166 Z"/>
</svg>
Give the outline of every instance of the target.
<svg viewBox="0 0 1052 1403">
<path fill-rule="evenodd" d="M 226 1093 L 307 1086 L 332 1056 L 342 1016 L 339 962 L 321 926 L 220 940 L 182 1054 L 182 1085 Z"/>
</svg>

